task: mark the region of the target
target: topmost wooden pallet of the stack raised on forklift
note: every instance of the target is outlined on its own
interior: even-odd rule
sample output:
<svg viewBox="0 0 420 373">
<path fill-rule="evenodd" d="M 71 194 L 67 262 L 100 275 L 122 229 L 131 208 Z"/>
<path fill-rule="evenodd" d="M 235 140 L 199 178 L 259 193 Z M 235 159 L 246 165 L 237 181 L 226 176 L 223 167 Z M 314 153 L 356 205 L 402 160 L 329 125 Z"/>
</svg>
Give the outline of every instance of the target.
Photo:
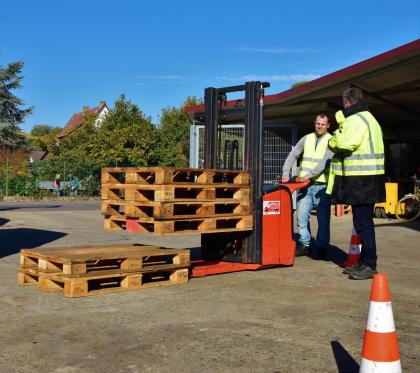
<svg viewBox="0 0 420 373">
<path fill-rule="evenodd" d="M 249 186 L 244 171 L 209 170 L 168 167 L 102 168 L 102 183 L 120 184 L 215 184 L 229 183 Z"/>
</svg>

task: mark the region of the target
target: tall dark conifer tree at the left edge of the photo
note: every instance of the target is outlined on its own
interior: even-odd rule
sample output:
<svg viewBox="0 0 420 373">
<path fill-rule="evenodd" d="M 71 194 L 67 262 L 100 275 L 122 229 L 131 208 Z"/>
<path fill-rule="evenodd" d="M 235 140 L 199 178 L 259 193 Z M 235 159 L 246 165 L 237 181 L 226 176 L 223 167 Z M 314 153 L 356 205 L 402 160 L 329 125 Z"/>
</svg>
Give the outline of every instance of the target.
<svg viewBox="0 0 420 373">
<path fill-rule="evenodd" d="M 32 112 L 32 108 L 22 108 L 24 102 L 13 94 L 22 88 L 23 62 L 12 62 L 7 67 L 0 66 L 0 145 L 18 147 L 26 145 L 25 136 L 19 125 Z"/>
</svg>

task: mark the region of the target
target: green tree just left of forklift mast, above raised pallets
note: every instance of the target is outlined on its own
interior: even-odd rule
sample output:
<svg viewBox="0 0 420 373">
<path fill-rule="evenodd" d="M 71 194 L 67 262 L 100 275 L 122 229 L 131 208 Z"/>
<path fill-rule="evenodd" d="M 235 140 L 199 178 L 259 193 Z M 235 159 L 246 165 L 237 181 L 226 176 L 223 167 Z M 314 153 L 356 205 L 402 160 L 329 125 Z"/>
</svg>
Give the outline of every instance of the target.
<svg viewBox="0 0 420 373">
<path fill-rule="evenodd" d="M 191 122 L 185 114 L 184 108 L 200 103 L 202 101 L 197 97 L 188 97 L 180 108 L 162 109 L 156 151 L 160 165 L 188 167 Z"/>
</svg>

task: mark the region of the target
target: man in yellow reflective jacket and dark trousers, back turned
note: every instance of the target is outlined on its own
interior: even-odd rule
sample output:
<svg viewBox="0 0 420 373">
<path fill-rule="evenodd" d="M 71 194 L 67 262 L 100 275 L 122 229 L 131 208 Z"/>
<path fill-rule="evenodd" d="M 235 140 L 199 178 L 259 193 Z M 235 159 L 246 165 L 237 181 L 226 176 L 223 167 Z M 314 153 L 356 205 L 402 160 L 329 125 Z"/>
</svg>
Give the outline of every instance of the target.
<svg viewBox="0 0 420 373">
<path fill-rule="evenodd" d="M 377 272 L 373 206 L 385 201 L 384 143 L 362 91 L 349 88 L 342 98 L 344 109 L 336 113 L 339 128 L 329 140 L 335 155 L 327 193 L 332 202 L 351 205 L 354 229 L 362 241 L 360 261 L 343 273 L 350 279 L 365 280 Z"/>
</svg>

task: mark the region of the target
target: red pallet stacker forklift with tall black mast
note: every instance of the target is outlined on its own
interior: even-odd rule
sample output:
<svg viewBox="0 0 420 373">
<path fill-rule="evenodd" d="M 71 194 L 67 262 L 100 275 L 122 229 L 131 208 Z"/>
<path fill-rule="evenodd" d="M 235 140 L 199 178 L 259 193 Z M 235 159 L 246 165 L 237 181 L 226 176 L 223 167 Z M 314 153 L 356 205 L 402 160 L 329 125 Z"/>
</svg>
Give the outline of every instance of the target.
<svg viewBox="0 0 420 373">
<path fill-rule="evenodd" d="M 204 168 L 249 172 L 254 229 L 202 234 L 202 260 L 192 263 L 192 277 L 293 265 L 292 194 L 309 181 L 292 178 L 287 183 L 264 183 L 264 89 L 269 86 L 254 81 L 204 91 L 204 117 L 197 118 L 204 124 Z M 227 95 L 233 92 L 245 92 L 245 98 L 228 101 Z M 244 123 L 241 164 L 238 141 L 223 141 L 221 136 L 223 125 L 232 120 Z"/>
</svg>

